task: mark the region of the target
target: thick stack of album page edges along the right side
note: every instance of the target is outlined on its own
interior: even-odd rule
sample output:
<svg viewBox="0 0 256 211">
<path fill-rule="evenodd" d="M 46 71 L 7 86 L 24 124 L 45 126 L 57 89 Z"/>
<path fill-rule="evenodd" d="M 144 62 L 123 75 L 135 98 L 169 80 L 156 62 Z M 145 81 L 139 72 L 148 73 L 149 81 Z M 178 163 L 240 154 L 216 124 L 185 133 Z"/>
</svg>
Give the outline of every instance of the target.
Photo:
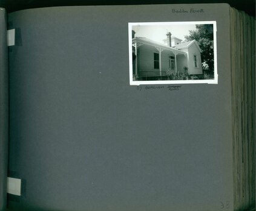
<svg viewBox="0 0 256 211">
<path fill-rule="evenodd" d="M 234 204 L 255 209 L 255 17 L 230 14 Z"/>
</svg>

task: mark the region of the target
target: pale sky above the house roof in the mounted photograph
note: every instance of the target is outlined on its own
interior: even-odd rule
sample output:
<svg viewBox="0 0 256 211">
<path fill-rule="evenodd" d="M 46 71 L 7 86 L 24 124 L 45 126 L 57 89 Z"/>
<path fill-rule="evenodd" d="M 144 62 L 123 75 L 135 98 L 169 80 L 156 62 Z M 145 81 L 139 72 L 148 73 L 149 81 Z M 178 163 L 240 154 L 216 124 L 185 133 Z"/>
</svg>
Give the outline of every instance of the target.
<svg viewBox="0 0 256 211">
<path fill-rule="evenodd" d="M 135 37 L 146 37 L 148 39 L 163 43 L 166 39 L 166 33 L 170 32 L 172 36 L 185 40 L 185 35 L 189 35 L 189 30 L 195 30 L 195 24 L 189 25 L 133 25 L 132 29 L 136 32 Z"/>
</svg>

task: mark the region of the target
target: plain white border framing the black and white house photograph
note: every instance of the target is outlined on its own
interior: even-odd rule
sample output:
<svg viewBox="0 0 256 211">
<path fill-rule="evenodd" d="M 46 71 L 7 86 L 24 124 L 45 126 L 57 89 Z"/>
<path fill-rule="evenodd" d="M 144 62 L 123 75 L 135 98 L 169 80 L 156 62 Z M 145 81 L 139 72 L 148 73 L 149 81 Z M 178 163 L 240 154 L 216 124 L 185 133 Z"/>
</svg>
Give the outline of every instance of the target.
<svg viewBox="0 0 256 211">
<path fill-rule="evenodd" d="M 142 25 L 195 25 L 195 24 L 212 24 L 214 33 L 214 79 L 211 80 L 159 80 L 159 81 L 133 81 L 133 48 L 132 48 L 132 27 Z M 211 21 L 184 21 L 184 22 L 128 22 L 128 39 L 129 39 L 129 71 L 130 85 L 143 84 L 218 84 L 217 73 L 217 24 L 215 20 Z"/>
</svg>

